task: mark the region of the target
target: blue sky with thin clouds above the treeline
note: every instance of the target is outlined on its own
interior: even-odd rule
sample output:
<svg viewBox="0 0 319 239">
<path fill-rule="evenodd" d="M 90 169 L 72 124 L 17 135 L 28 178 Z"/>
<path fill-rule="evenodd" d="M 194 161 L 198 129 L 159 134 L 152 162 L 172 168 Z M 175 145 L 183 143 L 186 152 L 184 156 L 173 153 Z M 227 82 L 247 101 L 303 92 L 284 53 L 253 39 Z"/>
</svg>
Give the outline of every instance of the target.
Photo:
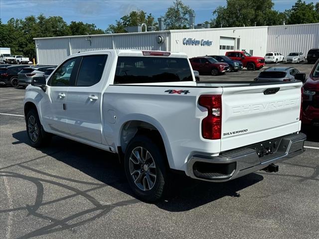
<svg viewBox="0 0 319 239">
<path fill-rule="evenodd" d="M 307 3 L 319 0 L 305 0 Z M 64 21 L 94 23 L 105 30 L 123 15 L 142 9 L 157 19 L 164 15 L 173 0 L 0 0 L 0 18 L 6 23 L 11 17 L 24 18 L 43 13 L 48 16 L 62 16 Z M 195 24 L 212 18 L 217 6 L 226 5 L 226 0 L 183 0 L 196 14 Z M 296 0 L 273 0 L 274 9 L 290 9 Z"/>
</svg>

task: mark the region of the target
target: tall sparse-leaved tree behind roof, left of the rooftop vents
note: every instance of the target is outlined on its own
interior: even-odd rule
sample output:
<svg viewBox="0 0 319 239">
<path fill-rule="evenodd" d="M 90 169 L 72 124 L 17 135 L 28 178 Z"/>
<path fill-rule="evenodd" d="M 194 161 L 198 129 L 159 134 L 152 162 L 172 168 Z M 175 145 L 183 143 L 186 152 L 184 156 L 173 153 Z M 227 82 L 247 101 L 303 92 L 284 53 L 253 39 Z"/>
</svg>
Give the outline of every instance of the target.
<svg viewBox="0 0 319 239">
<path fill-rule="evenodd" d="M 188 5 L 184 5 L 181 0 L 175 0 L 167 8 L 164 15 L 164 24 L 167 30 L 189 28 L 189 14 L 194 13 Z"/>
</svg>

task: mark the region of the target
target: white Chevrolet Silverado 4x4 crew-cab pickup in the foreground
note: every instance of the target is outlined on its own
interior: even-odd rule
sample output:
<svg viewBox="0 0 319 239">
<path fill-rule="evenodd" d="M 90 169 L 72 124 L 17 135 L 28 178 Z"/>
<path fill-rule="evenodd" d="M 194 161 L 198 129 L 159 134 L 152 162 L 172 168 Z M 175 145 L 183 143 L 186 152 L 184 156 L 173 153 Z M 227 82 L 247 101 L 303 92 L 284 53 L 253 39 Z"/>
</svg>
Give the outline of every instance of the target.
<svg viewBox="0 0 319 239">
<path fill-rule="evenodd" d="M 212 182 L 304 152 L 302 82 L 196 82 L 187 55 L 104 50 L 75 54 L 26 88 L 30 144 L 52 134 L 117 153 L 142 200 L 172 171 Z"/>
</svg>

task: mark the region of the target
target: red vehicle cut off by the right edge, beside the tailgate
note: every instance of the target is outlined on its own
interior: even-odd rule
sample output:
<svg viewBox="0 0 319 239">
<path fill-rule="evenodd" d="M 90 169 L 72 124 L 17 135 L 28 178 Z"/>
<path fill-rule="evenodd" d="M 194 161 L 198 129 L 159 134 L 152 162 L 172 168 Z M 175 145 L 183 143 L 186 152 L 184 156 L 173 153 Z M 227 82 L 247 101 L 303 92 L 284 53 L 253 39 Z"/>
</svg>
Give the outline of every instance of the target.
<svg viewBox="0 0 319 239">
<path fill-rule="evenodd" d="M 302 122 L 319 126 L 319 60 L 304 84 Z"/>
</svg>

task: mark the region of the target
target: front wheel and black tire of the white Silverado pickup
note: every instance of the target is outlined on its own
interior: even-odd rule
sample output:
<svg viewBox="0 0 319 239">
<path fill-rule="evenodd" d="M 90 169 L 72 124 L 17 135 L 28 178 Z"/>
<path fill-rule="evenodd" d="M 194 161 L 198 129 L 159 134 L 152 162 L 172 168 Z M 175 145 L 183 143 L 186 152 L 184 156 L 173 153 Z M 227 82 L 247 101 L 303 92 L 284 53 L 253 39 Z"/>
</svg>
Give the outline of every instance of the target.
<svg viewBox="0 0 319 239">
<path fill-rule="evenodd" d="M 36 110 L 29 110 L 29 112 L 26 114 L 25 122 L 26 133 L 28 135 L 28 139 L 32 147 L 40 148 L 50 143 L 51 134 L 44 131 Z M 34 124 L 32 125 L 33 122 Z"/>
</svg>

